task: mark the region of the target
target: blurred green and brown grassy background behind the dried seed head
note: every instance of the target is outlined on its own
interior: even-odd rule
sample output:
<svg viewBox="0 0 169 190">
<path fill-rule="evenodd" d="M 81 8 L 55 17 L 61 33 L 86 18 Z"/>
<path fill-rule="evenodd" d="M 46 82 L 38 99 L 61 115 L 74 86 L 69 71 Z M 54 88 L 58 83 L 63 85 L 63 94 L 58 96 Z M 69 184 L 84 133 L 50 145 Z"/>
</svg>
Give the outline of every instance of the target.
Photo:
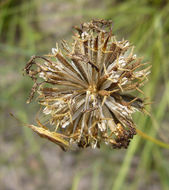
<svg viewBox="0 0 169 190">
<path fill-rule="evenodd" d="M 139 129 L 169 143 L 169 1 L 167 0 L 0 0 L 0 189 L 1 190 L 168 190 L 169 150 L 135 136 L 127 150 L 62 152 L 22 127 L 35 123 L 39 106 L 26 104 L 32 81 L 23 68 L 43 55 L 72 26 L 111 19 L 113 33 L 128 39 L 152 64 L 143 88 L 154 103 L 152 119 L 134 115 Z"/>
</svg>

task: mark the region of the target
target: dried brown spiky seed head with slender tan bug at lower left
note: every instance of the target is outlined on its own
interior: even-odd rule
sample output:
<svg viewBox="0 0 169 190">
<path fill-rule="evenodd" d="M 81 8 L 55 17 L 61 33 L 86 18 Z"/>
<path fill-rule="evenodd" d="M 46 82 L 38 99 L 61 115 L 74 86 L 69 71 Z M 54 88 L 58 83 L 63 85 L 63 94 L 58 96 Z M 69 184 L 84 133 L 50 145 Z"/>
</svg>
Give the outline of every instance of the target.
<svg viewBox="0 0 169 190">
<path fill-rule="evenodd" d="M 150 67 L 133 54 L 128 41 L 117 41 L 111 21 L 93 20 L 75 27 L 72 46 L 34 56 L 25 67 L 33 79 L 30 99 L 37 91 L 46 124 L 30 127 L 66 150 L 100 147 L 127 148 L 136 134 L 131 114 L 144 111 L 133 95 L 147 81 Z M 49 127 L 50 126 L 50 127 Z M 52 128 L 53 126 L 53 128 Z M 53 129 L 53 130 L 52 130 Z"/>
</svg>

